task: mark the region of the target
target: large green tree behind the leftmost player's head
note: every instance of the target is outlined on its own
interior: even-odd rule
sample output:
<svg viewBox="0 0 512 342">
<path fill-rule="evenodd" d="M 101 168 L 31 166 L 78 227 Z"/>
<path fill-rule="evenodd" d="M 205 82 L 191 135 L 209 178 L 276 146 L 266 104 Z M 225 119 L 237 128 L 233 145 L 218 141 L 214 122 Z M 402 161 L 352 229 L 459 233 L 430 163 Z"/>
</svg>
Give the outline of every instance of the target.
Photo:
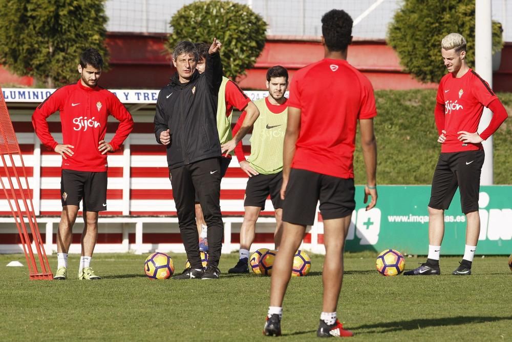
<svg viewBox="0 0 512 342">
<path fill-rule="evenodd" d="M 0 0 L 0 64 L 49 88 L 78 79 L 78 56 L 100 51 L 107 17 L 103 0 Z"/>
</svg>

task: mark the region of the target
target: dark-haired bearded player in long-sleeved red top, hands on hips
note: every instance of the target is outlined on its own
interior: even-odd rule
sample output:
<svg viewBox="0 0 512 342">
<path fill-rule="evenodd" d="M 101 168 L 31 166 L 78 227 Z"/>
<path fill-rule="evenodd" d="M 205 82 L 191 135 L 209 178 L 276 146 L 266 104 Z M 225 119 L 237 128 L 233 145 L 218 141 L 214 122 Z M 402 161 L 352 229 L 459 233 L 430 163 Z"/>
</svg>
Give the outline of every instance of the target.
<svg viewBox="0 0 512 342">
<path fill-rule="evenodd" d="M 41 142 L 62 156 L 62 214 L 57 232 L 58 266 L 54 276 L 58 280 L 67 277 L 68 250 L 80 200 L 84 227 L 78 278 L 100 279 L 90 264 L 98 237 L 98 212 L 106 210 L 106 153 L 117 150 L 133 129 L 132 115 L 116 95 L 97 85 L 102 66 L 103 59 L 98 50 L 83 51 L 78 64 L 79 81 L 57 89 L 32 115 L 32 124 Z M 60 112 L 62 144 L 50 134 L 46 121 L 56 111 Z M 111 142 L 107 143 L 105 133 L 109 115 L 120 123 Z"/>
</svg>

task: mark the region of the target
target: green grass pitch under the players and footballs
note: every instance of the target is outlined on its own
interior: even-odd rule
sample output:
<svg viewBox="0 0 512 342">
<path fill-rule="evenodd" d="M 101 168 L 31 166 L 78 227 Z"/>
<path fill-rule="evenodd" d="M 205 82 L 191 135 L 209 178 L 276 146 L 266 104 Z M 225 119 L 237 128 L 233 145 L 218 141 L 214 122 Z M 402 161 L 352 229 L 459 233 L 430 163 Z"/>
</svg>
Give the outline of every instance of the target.
<svg viewBox="0 0 512 342">
<path fill-rule="evenodd" d="M 176 272 L 184 254 L 171 255 Z M 508 256 L 477 257 L 473 275 L 453 276 L 459 257 L 442 257 L 440 276 L 384 277 L 377 253 L 346 254 L 338 317 L 353 340 L 502 341 L 512 339 L 512 272 Z M 223 255 L 219 280 L 150 280 L 146 255 L 97 254 L 102 280 L 77 280 L 78 255 L 68 280 L 29 280 L 23 255 L 0 255 L 0 335 L 16 341 L 259 341 L 270 277 L 229 275 L 237 253 Z M 316 339 L 322 311 L 323 256 L 311 255 L 307 277 L 292 278 L 279 340 Z M 406 257 L 406 270 L 424 257 Z M 50 257 L 55 272 L 56 256 Z"/>
</svg>

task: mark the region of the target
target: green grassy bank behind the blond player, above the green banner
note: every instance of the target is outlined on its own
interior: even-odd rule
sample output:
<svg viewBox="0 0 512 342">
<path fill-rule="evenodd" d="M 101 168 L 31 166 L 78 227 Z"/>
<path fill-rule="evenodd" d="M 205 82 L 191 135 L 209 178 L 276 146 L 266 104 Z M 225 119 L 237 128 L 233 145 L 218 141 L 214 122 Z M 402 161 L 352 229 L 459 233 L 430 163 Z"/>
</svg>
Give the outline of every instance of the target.
<svg viewBox="0 0 512 342">
<path fill-rule="evenodd" d="M 509 118 L 494 137 L 494 183 L 512 184 L 512 93 L 499 93 Z M 440 152 L 434 123 L 436 90 L 379 90 L 375 92 L 378 115 L 377 183 L 431 184 Z M 354 155 L 355 183 L 366 175 L 359 134 Z"/>
</svg>

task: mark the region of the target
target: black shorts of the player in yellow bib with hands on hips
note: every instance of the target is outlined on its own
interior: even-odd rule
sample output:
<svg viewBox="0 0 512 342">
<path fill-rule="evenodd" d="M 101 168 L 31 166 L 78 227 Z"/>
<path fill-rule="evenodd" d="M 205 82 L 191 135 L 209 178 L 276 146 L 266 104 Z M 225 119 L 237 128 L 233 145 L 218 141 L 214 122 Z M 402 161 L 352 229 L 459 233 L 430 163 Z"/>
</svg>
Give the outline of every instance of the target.
<svg viewBox="0 0 512 342">
<path fill-rule="evenodd" d="M 283 184 L 283 172 L 274 174 L 257 174 L 247 179 L 245 188 L 244 207 L 260 207 L 265 210 L 265 201 L 268 195 L 274 209 L 283 208 L 281 199 L 281 185 Z"/>
</svg>

